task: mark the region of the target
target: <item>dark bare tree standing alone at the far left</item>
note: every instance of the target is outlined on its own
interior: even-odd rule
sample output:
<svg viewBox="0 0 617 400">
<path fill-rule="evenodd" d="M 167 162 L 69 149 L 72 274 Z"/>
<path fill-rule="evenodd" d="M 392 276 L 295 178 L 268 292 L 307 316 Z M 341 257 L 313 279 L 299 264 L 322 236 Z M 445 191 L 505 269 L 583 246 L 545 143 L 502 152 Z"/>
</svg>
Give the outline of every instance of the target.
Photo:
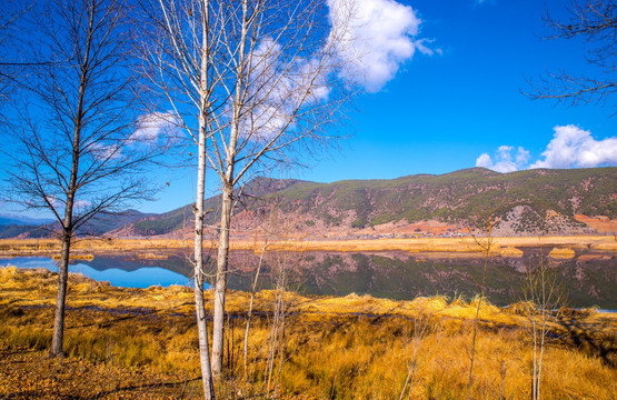
<svg viewBox="0 0 617 400">
<path fill-rule="evenodd" d="M 159 150 L 135 123 L 133 30 L 126 3 L 56 0 L 41 7 L 31 51 L 51 62 L 38 63 L 22 82 L 27 106 L 19 109 L 7 181 L 11 200 L 51 212 L 61 227 L 50 350 L 58 357 L 76 231 L 97 214 L 148 199 L 141 173 Z"/>
</svg>

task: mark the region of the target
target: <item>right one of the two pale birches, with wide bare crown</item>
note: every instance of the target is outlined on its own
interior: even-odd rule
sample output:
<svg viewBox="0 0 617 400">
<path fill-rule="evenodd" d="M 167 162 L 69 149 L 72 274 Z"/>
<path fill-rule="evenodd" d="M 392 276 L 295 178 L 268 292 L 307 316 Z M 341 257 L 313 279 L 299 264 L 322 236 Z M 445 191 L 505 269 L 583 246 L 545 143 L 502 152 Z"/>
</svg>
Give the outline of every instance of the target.
<svg viewBox="0 0 617 400">
<path fill-rule="evenodd" d="M 350 9 L 322 1 L 221 1 L 222 41 L 212 63 L 218 82 L 211 109 L 209 166 L 220 180 L 212 371 L 222 369 L 229 233 L 235 189 L 256 168 L 289 166 L 292 153 L 325 139 L 349 97 L 336 73 Z M 329 23 L 336 14 L 337 23 Z M 328 18 L 330 16 L 330 19 Z"/>
</svg>

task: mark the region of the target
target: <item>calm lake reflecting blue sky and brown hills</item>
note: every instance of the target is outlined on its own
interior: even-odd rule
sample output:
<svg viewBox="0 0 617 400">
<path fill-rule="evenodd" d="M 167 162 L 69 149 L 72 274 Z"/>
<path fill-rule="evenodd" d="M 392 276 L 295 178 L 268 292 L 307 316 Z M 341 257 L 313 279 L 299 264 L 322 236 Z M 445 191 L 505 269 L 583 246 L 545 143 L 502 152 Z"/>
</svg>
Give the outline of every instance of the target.
<svg viewBox="0 0 617 400">
<path fill-rule="evenodd" d="M 539 249 L 526 250 L 521 258 L 451 257 L 405 252 L 377 253 L 268 253 L 261 271 L 260 288 L 285 278 L 290 290 L 306 294 L 365 294 L 391 299 L 417 296 L 461 294 L 479 292 L 482 276 L 486 293 L 496 304 L 508 304 L 524 298 L 526 270 L 539 263 Z M 551 273 L 565 289 L 570 307 L 598 306 L 617 309 L 617 260 L 614 253 L 581 253 L 570 260 L 546 259 Z M 155 284 L 190 284 L 192 267 L 188 254 L 175 253 L 163 260 L 143 260 L 130 256 L 97 256 L 92 261 L 71 263 L 71 272 L 81 272 L 113 286 L 147 288 Z M 252 252 L 230 254 L 232 289 L 248 290 L 258 263 Z M 49 258 L 0 259 L 0 266 L 47 268 L 57 271 Z"/>
</svg>

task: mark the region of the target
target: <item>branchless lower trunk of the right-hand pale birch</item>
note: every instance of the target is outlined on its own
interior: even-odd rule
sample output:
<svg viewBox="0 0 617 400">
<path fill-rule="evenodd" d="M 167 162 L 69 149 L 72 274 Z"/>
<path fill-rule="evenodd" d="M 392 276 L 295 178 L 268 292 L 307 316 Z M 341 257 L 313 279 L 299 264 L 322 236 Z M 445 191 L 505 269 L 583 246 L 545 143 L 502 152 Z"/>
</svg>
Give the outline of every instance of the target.
<svg viewBox="0 0 617 400">
<path fill-rule="evenodd" d="M 215 283 L 215 321 L 212 330 L 212 372 L 218 376 L 222 371 L 223 331 L 225 331 L 225 294 L 227 291 L 227 270 L 229 257 L 229 226 L 231 222 L 233 189 L 222 189 L 222 210 L 217 257 L 217 281 Z"/>
</svg>

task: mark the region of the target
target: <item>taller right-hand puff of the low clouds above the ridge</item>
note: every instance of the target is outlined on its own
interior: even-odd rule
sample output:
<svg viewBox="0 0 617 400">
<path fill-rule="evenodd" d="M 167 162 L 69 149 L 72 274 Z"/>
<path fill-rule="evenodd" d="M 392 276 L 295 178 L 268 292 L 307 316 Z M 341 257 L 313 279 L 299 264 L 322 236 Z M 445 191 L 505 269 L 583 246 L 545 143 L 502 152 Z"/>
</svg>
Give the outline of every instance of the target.
<svg viewBox="0 0 617 400">
<path fill-rule="evenodd" d="M 555 127 L 555 136 L 543 152 L 543 160 L 529 168 L 571 168 L 617 166 L 617 138 L 596 140 L 591 132 L 574 124 Z"/>
</svg>

